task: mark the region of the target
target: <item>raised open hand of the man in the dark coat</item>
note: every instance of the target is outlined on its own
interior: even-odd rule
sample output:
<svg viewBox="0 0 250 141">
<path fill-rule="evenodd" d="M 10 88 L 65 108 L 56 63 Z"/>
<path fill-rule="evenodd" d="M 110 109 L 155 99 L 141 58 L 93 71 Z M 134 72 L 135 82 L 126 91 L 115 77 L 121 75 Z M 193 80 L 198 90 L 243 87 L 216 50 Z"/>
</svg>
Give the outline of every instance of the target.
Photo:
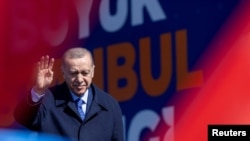
<svg viewBox="0 0 250 141">
<path fill-rule="evenodd" d="M 36 79 L 34 91 L 38 94 L 44 94 L 45 90 L 51 85 L 53 81 L 53 65 L 54 58 L 49 58 L 49 56 L 42 56 L 40 61 L 37 62 L 36 68 Z"/>
</svg>

